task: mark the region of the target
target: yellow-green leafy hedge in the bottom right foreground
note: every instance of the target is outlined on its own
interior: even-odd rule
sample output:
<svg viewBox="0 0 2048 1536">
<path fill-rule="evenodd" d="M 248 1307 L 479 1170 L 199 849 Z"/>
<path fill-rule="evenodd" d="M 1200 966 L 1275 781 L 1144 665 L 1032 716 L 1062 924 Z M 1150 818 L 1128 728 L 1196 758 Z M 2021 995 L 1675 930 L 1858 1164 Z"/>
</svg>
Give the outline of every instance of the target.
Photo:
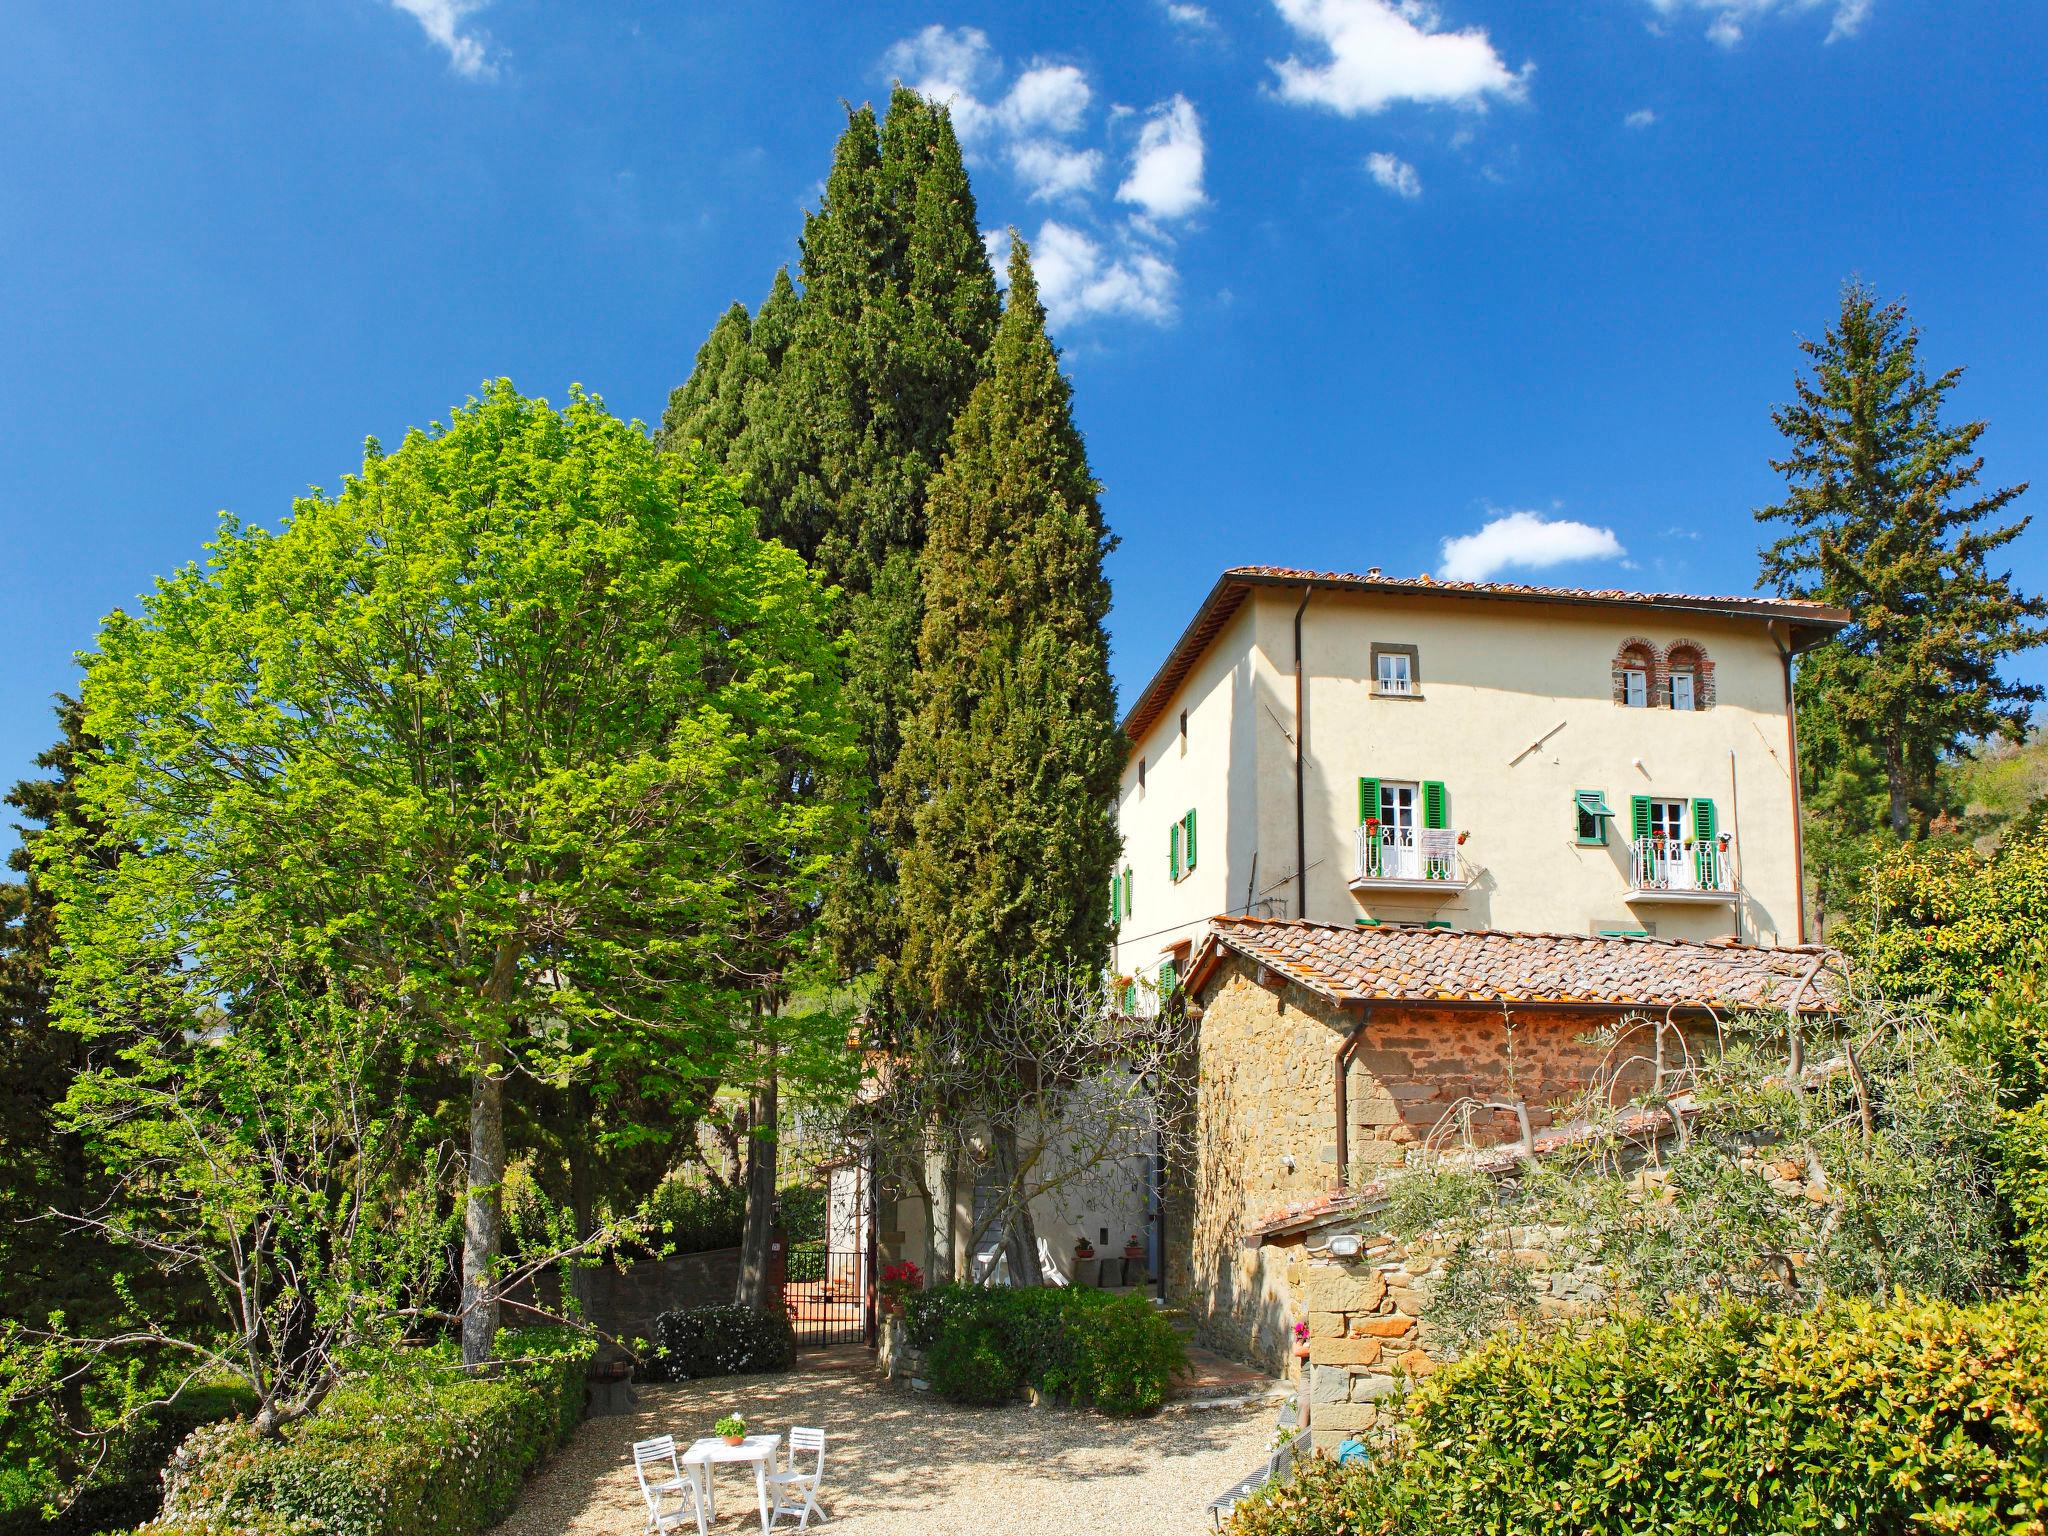
<svg viewBox="0 0 2048 1536">
<path fill-rule="evenodd" d="M 2048 1303 L 1839 1303 L 1503 1337 L 1372 1475 L 1315 1462 L 1231 1536 L 2048 1530 Z"/>
</svg>

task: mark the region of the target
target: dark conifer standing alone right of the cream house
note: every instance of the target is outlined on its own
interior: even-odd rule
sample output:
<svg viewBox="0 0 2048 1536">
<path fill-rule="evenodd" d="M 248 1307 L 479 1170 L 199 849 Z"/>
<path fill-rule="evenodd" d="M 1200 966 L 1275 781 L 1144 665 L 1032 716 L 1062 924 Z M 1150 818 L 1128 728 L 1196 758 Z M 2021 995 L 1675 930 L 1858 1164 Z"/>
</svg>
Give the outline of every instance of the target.
<svg viewBox="0 0 2048 1536">
<path fill-rule="evenodd" d="M 1909 836 L 1939 809 L 1942 758 L 2017 737 L 2042 698 L 1999 664 L 2048 641 L 2048 602 L 1987 563 L 2028 526 L 1993 522 L 2025 485 L 1978 489 L 1987 424 L 1942 420 L 1962 369 L 1927 377 L 1905 303 L 1849 283 L 1839 322 L 1800 350 L 1812 377 L 1772 412 L 1790 442 L 1772 461 L 1786 500 L 1757 510 L 1790 532 L 1763 551 L 1757 586 L 1853 614 L 1831 653 L 1804 666 L 1800 709 L 1847 756 L 1876 754 L 1884 819 Z"/>
</svg>

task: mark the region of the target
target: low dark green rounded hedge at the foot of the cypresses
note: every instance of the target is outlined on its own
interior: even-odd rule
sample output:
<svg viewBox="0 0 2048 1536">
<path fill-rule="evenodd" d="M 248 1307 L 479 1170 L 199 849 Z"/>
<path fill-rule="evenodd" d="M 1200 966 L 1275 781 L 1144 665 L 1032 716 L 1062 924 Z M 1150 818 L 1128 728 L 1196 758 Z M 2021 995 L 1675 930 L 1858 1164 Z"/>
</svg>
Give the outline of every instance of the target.
<svg viewBox="0 0 2048 1536">
<path fill-rule="evenodd" d="M 1102 1413 L 1151 1413 L 1188 1352 L 1143 1296 L 1073 1286 L 934 1286 L 903 1300 L 932 1391 L 1006 1403 L 1032 1386 Z"/>
</svg>

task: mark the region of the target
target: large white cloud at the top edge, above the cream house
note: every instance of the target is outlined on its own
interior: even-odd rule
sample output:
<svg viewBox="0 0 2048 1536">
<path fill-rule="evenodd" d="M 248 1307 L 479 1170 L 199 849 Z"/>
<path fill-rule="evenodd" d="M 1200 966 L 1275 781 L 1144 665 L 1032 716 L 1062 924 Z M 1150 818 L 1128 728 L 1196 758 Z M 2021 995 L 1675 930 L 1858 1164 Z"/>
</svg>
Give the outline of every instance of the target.
<svg viewBox="0 0 2048 1536">
<path fill-rule="evenodd" d="M 1509 70 L 1479 27 L 1442 31 L 1442 16 L 1425 0 L 1274 0 L 1274 6 L 1288 27 L 1329 53 L 1323 63 L 1286 57 L 1272 66 L 1280 96 L 1292 102 L 1346 117 L 1401 100 L 1479 109 L 1487 96 L 1518 100 L 1528 82 L 1530 66 L 1520 74 Z"/>
</svg>

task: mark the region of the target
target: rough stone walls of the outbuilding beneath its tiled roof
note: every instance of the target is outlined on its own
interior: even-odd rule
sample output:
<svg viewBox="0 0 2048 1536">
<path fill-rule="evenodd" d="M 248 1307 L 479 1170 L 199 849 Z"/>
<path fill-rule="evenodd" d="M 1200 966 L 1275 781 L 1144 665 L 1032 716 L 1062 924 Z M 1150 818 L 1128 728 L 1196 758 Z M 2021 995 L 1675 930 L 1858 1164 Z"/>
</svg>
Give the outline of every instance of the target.
<svg viewBox="0 0 2048 1536">
<path fill-rule="evenodd" d="M 1399 1167 L 1460 1098 L 1518 1098 L 1532 1128 L 1573 1100 L 1606 1051 L 1585 1034 L 1624 1010 L 1415 1008 L 1378 1004 L 1370 1020 L 1231 954 L 1202 989 L 1196 1157 L 1169 1174 L 1167 1288 L 1196 1337 L 1274 1370 L 1292 1360 L 1303 1317 L 1303 1255 L 1260 1243 L 1274 1210 L 1337 1184 L 1335 1053 L 1366 1026 L 1350 1069 L 1350 1159 L 1370 1176 Z M 1481 1116 L 1481 1145 L 1520 1137 L 1513 1114 Z"/>
</svg>

